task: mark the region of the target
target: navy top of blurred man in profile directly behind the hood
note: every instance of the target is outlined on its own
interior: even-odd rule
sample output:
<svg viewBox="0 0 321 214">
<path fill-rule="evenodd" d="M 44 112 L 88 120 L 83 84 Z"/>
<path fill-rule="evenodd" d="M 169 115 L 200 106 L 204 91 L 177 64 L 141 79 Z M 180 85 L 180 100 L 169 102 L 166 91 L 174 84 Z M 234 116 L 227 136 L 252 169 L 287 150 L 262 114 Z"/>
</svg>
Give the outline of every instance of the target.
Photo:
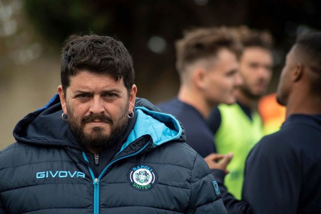
<svg viewBox="0 0 321 214">
<path fill-rule="evenodd" d="M 203 158 L 216 152 L 213 132 L 194 107 L 181 102 L 178 98 L 160 103 L 157 107 L 178 118 L 186 132 L 186 143 Z"/>
</svg>

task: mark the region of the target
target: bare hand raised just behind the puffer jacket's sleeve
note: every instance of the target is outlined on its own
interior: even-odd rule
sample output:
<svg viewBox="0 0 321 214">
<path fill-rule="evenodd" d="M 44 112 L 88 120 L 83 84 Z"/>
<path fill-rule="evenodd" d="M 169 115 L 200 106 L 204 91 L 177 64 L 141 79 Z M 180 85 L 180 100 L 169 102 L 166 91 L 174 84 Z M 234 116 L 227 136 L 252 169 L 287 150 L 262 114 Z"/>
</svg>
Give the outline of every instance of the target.
<svg viewBox="0 0 321 214">
<path fill-rule="evenodd" d="M 229 171 L 226 169 L 227 165 L 230 163 L 231 159 L 233 158 L 233 154 L 229 153 L 227 155 L 221 155 L 217 153 L 211 153 L 208 156 L 204 158 L 206 161 L 208 167 L 210 169 L 220 169 L 224 171 L 225 173 L 229 173 Z M 221 160 L 220 162 L 217 162 Z"/>
</svg>

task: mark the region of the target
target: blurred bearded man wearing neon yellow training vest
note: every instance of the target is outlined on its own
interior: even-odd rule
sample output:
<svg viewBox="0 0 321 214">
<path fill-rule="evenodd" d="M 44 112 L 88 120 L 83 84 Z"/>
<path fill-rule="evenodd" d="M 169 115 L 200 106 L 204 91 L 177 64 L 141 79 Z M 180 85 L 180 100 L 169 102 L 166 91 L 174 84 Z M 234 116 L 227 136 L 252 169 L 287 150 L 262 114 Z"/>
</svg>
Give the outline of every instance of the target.
<svg viewBox="0 0 321 214">
<path fill-rule="evenodd" d="M 249 30 L 245 26 L 230 30 L 238 35 L 244 47 L 239 61 L 243 84 L 236 91 L 237 103 L 219 105 L 208 122 L 217 152 L 233 153 L 225 184 L 229 192 L 240 199 L 246 157 L 263 136 L 257 102 L 265 94 L 272 76 L 272 37 L 265 31 Z"/>
</svg>

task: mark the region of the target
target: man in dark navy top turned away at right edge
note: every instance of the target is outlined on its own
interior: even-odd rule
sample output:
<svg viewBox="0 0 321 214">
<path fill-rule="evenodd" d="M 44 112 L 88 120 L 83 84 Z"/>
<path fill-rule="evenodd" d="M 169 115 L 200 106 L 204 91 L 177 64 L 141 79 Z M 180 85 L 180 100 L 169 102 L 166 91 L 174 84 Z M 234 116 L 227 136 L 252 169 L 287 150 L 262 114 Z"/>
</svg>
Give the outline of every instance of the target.
<svg viewBox="0 0 321 214">
<path fill-rule="evenodd" d="M 286 56 L 277 100 L 286 106 L 280 131 L 263 137 L 247 157 L 242 201 L 223 186 L 229 213 L 321 213 L 321 32 L 299 36 Z"/>
</svg>

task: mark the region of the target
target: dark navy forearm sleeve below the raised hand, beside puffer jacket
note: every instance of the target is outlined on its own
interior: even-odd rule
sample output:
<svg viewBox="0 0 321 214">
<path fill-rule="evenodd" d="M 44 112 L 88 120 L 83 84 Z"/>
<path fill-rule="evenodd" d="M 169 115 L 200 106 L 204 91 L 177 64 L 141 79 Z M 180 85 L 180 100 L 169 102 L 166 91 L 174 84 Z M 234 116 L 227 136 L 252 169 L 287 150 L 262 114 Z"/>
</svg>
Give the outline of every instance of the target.
<svg viewBox="0 0 321 214">
<path fill-rule="evenodd" d="M 216 178 L 221 191 L 222 200 L 229 214 L 252 214 L 252 209 L 245 201 L 239 201 L 227 191 L 224 185 L 225 172 L 219 169 L 212 169 L 212 175 Z"/>
</svg>

